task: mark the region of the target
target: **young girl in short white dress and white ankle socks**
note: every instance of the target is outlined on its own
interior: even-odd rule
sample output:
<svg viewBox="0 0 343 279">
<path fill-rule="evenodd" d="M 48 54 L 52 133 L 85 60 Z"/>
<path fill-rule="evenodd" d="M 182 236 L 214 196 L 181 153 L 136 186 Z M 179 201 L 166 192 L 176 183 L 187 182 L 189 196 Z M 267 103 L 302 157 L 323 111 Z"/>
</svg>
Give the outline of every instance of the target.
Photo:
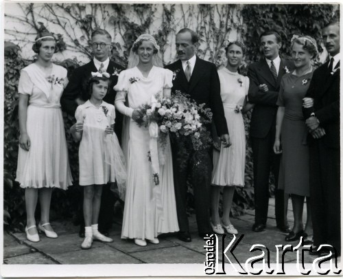
<svg viewBox="0 0 343 279">
<path fill-rule="evenodd" d="M 102 99 L 108 91 L 109 74 L 92 73 L 88 82 L 89 100 L 75 111 L 76 124 L 71 127 L 80 140 L 80 186 L 84 186 L 85 238 L 82 249 L 89 249 L 93 240 L 113 242 L 97 230 L 102 186 L 108 181 L 123 183 L 126 179 L 123 153 L 113 127 L 115 107 Z"/>
</svg>

